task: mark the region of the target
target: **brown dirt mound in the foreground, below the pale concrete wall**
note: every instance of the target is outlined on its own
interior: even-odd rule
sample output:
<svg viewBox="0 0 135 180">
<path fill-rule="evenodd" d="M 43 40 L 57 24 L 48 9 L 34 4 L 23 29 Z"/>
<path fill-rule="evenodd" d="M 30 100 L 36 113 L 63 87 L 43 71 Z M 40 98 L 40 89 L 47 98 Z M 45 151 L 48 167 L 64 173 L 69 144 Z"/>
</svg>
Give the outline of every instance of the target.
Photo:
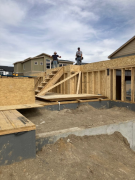
<svg viewBox="0 0 135 180">
<path fill-rule="evenodd" d="M 47 145 L 35 159 L 0 167 L 0 180 L 135 180 L 135 153 L 112 135 L 71 135 Z"/>
</svg>

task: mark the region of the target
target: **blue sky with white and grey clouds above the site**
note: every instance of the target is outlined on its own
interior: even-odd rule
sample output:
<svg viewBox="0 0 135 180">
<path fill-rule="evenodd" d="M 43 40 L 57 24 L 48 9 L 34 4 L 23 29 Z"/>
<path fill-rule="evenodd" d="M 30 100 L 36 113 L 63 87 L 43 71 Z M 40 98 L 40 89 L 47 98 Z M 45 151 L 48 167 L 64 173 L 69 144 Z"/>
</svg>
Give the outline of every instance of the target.
<svg viewBox="0 0 135 180">
<path fill-rule="evenodd" d="M 57 51 L 107 60 L 135 35 L 135 0 L 0 0 L 0 65 Z"/>
</svg>

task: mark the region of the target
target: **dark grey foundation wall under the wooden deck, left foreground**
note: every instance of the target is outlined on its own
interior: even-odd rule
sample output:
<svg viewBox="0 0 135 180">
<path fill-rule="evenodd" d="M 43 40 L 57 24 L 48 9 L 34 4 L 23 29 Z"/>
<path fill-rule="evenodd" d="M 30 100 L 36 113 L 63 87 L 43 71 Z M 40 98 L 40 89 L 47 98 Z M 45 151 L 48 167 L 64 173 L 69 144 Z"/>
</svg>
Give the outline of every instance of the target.
<svg viewBox="0 0 135 180">
<path fill-rule="evenodd" d="M 35 157 L 35 130 L 0 136 L 0 165 Z"/>
</svg>

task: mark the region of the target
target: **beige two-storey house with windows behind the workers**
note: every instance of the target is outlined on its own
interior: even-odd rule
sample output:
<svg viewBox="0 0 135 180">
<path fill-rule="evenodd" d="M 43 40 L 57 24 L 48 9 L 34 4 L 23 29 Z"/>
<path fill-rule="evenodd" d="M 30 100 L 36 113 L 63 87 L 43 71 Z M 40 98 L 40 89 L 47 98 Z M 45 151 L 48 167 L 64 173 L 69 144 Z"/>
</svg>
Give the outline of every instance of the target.
<svg viewBox="0 0 135 180">
<path fill-rule="evenodd" d="M 14 63 L 14 73 L 19 75 L 28 76 L 30 74 L 39 73 L 46 71 L 46 69 L 51 69 L 52 58 L 49 54 L 42 53 L 35 57 L 29 57 L 23 61 L 18 61 Z M 68 60 L 58 60 L 59 66 L 72 65 L 73 61 Z"/>
</svg>

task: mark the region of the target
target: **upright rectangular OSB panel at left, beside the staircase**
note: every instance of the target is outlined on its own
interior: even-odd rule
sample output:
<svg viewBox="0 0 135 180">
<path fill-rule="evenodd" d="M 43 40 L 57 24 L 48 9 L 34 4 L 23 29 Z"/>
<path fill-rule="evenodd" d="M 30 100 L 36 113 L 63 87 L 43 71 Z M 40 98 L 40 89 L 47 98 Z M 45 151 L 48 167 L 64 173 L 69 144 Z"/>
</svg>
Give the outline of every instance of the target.
<svg viewBox="0 0 135 180">
<path fill-rule="evenodd" d="M 35 103 L 34 79 L 0 78 L 0 106 Z"/>
</svg>

